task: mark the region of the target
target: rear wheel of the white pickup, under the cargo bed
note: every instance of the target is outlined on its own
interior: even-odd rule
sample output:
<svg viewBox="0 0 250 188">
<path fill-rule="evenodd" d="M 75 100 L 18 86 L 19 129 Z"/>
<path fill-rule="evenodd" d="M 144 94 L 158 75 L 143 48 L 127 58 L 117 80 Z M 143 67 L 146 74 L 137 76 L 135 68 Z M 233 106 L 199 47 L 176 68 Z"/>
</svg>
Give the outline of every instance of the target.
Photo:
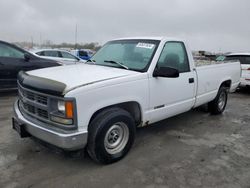
<svg viewBox="0 0 250 188">
<path fill-rule="evenodd" d="M 213 115 L 223 113 L 227 105 L 228 92 L 226 87 L 220 87 L 215 99 L 208 103 L 208 110 Z"/>
</svg>

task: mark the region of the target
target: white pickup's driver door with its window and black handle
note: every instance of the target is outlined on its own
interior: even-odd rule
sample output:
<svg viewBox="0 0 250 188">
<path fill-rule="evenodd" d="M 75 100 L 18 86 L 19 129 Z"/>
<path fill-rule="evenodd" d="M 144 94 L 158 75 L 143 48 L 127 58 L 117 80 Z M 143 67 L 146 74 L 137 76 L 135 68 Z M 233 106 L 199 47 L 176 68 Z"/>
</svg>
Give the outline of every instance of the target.
<svg viewBox="0 0 250 188">
<path fill-rule="evenodd" d="M 188 111 L 195 102 L 196 76 L 190 70 L 185 45 L 182 42 L 167 42 L 156 68 L 171 67 L 179 70 L 179 77 L 151 77 L 150 119 L 156 122 Z"/>
</svg>

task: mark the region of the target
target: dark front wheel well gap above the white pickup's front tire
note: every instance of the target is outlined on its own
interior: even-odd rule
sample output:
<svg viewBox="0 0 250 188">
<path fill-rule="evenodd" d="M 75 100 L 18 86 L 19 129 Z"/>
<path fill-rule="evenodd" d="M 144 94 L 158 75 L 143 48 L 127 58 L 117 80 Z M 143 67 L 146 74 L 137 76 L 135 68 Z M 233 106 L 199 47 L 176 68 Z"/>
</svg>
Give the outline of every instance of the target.
<svg viewBox="0 0 250 188">
<path fill-rule="evenodd" d="M 141 123 L 141 108 L 140 105 L 137 102 L 131 101 L 131 102 L 124 102 L 124 103 L 119 103 L 111 106 L 104 107 L 100 110 L 97 110 L 90 119 L 90 122 L 99 114 L 101 111 L 107 109 L 107 108 L 112 108 L 112 107 L 119 107 L 131 114 L 131 116 L 134 118 L 136 126 L 140 125 Z M 89 122 L 89 123 L 90 123 Z"/>
</svg>

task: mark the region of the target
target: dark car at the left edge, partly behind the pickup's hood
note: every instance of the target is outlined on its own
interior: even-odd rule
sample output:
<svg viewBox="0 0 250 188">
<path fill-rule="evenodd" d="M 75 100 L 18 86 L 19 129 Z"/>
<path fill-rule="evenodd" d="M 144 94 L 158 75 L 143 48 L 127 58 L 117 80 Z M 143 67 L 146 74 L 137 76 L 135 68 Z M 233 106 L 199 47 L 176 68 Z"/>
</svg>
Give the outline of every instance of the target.
<svg viewBox="0 0 250 188">
<path fill-rule="evenodd" d="M 0 41 L 0 91 L 17 88 L 19 71 L 59 65 L 56 61 L 40 58 L 16 45 Z"/>
</svg>

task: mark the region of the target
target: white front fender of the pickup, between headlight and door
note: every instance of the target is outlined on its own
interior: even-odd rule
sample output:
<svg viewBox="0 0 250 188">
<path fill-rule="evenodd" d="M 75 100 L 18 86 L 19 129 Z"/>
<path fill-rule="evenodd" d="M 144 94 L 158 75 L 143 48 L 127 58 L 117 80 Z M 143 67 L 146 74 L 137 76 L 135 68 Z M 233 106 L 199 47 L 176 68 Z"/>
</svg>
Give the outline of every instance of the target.
<svg viewBox="0 0 250 188">
<path fill-rule="evenodd" d="M 135 80 L 85 91 L 78 88 L 71 93 L 77 103 L 77 119 L 80 129 L 87 130 L 95 112 L 108 106 L 135 101 L 141 108 L 142 121 L 147 119 L 149 106 L 148 79 Z M 69 93 L 69 94 L 70 94 Z"/>
</svg>

